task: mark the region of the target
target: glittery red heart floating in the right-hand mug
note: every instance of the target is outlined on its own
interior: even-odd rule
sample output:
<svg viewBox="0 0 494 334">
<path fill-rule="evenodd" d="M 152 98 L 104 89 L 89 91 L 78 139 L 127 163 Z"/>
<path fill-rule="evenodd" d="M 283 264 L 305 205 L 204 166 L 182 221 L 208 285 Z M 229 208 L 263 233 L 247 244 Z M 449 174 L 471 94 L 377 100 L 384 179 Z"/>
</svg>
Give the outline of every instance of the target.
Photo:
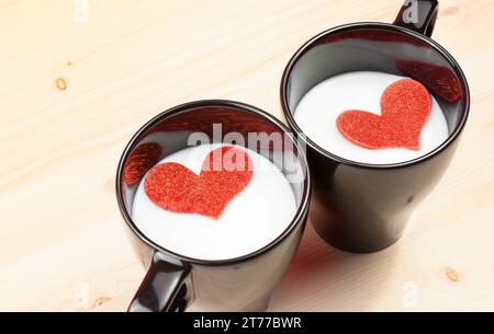
<svg viewBox="0 0 494 334">
<path fill-rule="evenodd" d="M 412 79 L 390 84 L 381 95 L 381 116 L 346 111 L 336 119 L 341 135 L 367 149 L 420 149 L 420 133 L 430 114 L 427 89 Z"/>
</svg>

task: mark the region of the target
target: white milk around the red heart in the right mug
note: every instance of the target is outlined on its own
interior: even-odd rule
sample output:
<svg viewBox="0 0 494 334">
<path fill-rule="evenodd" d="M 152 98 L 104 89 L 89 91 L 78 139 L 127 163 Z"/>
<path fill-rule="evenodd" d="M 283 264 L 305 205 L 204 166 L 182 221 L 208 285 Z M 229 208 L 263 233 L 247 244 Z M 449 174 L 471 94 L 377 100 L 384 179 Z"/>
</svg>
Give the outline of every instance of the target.
<svg viewBox="0 0 494 334">
<path fill-rule="evenodd" d="M 372 164 L 398 163 L 419 158 L 448 138 L 445 115 L 430 94 L 430 115 L 420 135 L 420 149 L 366 149 L 347 140 L 336 127 L 338 115 L 348 110 L 381 114 L 381 94 L 404 77 L 383 72 L 357 71 L 332 77 L 311 89 L 300 101 L 294 118 L 315 143 L 344 159 Z"/>
</svg>

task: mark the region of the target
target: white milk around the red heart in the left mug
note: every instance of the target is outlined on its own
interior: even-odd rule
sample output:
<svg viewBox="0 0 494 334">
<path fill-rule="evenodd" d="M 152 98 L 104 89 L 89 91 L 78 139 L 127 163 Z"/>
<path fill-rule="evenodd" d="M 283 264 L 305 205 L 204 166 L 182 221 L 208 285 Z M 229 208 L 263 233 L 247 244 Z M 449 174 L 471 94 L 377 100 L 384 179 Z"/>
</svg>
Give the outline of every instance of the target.
<svg viewBox="0 0 494 334">
<path fill-rule="evenodd" d="M 175 152 L 159 163 L 178 162 L 200 174 L 204 158 L 222 145 L 201 145 Z M 177 214 L 156 206 L 141 182 L 132 219 L 150 240 L 175 253 L 200 260 L 227 260 L 252 253 L 277 239 L 290 224 L 296 201 L 290 183 L 268 159 L 246 149 L 254 174 L 218 220 Z"/>
</svg>

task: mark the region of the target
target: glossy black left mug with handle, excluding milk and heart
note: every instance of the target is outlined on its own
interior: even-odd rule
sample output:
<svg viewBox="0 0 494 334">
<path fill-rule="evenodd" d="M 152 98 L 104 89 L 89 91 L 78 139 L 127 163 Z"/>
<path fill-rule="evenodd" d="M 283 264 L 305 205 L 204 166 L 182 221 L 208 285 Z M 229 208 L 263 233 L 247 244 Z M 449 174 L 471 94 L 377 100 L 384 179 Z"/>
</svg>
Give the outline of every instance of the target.
<svg viewBox="0 0 494 334">
<path fill-rule="evenodd" d="M 211 142 L 226 141 L 226 136 L 218 137 L 215 133 L 218 124 L 223 135 L 239 134 L 246 139 L 245 146 L 249 143 L 249 149 L 278 165 L 290 181 L 297 210 L 276 240 L 254 253 L 224 261 L 191 258 L 156 244 L 139 231 L 131 217 L 134 194 L 153 165 L 190 147 L 191 134 L 202 133 Z M 284 141 L 278 146 L 260 140 L 252 147 L 247 140 L 252 133 L 266 134 L 271 139 L 279 135 Z M 238 140 L 235 143 L 242 145 Z M 284 160 L 273 158 L 280 153 Z M 304 152 L 289 128 L 256 107 L 232 101 L 199 101 L 172 107 L 149 120 L 126 146 L 116 174 L 120 210 L 134 251 L 147 268 L 128 311 L 184 311 L 194 299 L 209 311 L 265 310 L 305 227 L 311 194 L 308 177 Z"/>
</svg>

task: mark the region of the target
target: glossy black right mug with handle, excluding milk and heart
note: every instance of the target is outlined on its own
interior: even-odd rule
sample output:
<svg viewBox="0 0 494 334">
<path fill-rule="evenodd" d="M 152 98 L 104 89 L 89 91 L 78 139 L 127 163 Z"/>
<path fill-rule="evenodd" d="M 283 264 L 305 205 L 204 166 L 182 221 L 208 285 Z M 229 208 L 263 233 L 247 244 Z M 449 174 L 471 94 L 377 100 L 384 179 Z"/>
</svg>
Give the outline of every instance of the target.
<svg viewBox="0 0 494 334">
<path fill-rule="evenodd" d="M 447 119 L 445 142 L 402 163 L 359 163 L 304 139 L 313 183 L 310 219 L 317 233 L 338 249 L 373 252 L 398 240 L 457 148 L 470 94 L 457 61 L 429 38 L 437 11 L 435 0 L 406 1 L 393 24 L 352 23 L 330 28 L 306 42 L 283 72 L 281 105 L 297 134 L 303 131 L 293 113 L 304 94 L 330 77 L 351 71 L 380 71 L 419 81 L 435 95 Z"/>
</svg>

